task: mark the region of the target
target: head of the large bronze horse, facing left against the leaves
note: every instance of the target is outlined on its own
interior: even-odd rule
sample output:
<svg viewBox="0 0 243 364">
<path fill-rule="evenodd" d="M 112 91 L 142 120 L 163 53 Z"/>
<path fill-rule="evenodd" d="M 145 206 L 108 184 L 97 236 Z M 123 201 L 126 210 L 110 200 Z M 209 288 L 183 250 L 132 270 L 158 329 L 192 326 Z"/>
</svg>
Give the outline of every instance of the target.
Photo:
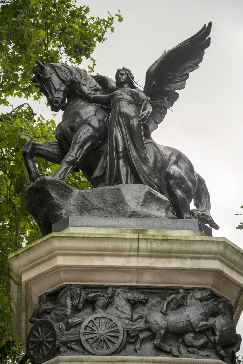
<svg viewBox="0 0 243 364">
<path fill-rule="evenodd" d="M 51 105 L 51 111 L 58 112 L 60 109 L 64 111 L 67 106 L 67 84 L 60 79 L 51 65 L 53 63 L 39 62 L 36 60 L 36 66 L 33 68 L 35 76 L 31 78 L 31 81 L 45 95 L 47 105 Z"/>
</svg>

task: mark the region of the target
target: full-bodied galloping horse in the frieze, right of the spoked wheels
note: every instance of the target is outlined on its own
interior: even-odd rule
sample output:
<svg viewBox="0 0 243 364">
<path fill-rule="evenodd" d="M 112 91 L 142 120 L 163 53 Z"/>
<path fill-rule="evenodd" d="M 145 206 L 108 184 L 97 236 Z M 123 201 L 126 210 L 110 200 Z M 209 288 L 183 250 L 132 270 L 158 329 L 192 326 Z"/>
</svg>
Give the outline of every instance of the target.
<svg viewBox="0 0 243 364">
<path fill-rule="evenodd" d="M 226 354 L 217 344 L 215 335 L 211 331 L 214 330 L 216 332 L 215 323 L 214 321 L 208 320 L 210 316 L 224 314 L 224 309 L 214 300 L 200 302 L 200 300 L 208 297 L 208 292 L 207 290 L 202 290 L 201 295 L 199 295 L 199 290 L 197 290 L 195 296 L 192 292 L 190 298 L 191 304 L 176 311 L 168 311 L 166 315 L 161 311 L 148 313 L 144 317 L 144 321 L 130 331 L 131 336 L 139 333 L 135 345 L 136 352 L 142 355 L 140 352 L 142 341 L 147 337 L 155 335 L 154 346 L 156 348 L 179 357 L 180 355 L 174 349 L 163 344 L 166 333 L 186 334 L 204 332 L 208 339 L 215 345 L 219 355 L 226 357 Z"/>
</svg>

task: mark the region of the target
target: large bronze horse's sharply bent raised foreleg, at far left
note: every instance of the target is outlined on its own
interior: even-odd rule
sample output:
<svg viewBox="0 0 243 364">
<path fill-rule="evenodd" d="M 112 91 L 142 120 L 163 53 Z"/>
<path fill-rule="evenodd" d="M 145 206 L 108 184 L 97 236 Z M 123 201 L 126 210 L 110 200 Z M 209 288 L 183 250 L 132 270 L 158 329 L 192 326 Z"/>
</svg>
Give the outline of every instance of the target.
<svg viewBox="0 0 243 364">
<path fill-rule="evenodd" d="M 28 141 L 23 147 L 22 154 L 31 182 L 35 182 L 36 179 L 41 178 L 35 163 L 35 157 L 40 157 L 48 162 L 57 164 L 61 164 L 61 161 L 65 157 L 57 142 L 36 143 Z"/>
</svg>

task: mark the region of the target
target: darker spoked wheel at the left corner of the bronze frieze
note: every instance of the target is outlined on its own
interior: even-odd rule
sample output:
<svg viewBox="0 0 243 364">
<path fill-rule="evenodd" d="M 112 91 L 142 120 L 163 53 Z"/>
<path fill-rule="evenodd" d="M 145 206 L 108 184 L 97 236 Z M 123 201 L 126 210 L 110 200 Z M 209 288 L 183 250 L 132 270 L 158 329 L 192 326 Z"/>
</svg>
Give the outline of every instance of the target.
<svg viewBox="0 0 243 364">
<path fill-rule="evenodd" d="M 26 352 L 32 363 L 50 360 L 56 350 L 56 327 L 49 320 L 40 320 L 27 337 Z"/>
</svg>

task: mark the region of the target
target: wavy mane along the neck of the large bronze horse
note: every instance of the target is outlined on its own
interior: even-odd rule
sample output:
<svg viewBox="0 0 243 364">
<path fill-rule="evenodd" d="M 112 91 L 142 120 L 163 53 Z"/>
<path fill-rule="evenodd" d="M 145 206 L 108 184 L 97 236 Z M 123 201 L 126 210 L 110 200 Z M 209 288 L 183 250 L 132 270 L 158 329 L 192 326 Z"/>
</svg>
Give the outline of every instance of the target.
<svg viewBox="0 0 243 364">
<path fill-rule="evenodd" d="M 99 91 L 99 94 L 104 94 L 103 88 L 88 74 L 86 70 L 81 68 L 69 66 L 65 63 L 46 63 L 41 62 L 43 66 L 48 67 L 52 71 L 56 72 L 60 80 L 68 87 L 69 80 L 73 77 L 77 77 L 82 84 L 91 92 Z M 41 68 L 37 64 L 33 68 L 33 73 L 41 73 Z M 97 93 L 97 92 L 96 92 Z"/>
</svg>

